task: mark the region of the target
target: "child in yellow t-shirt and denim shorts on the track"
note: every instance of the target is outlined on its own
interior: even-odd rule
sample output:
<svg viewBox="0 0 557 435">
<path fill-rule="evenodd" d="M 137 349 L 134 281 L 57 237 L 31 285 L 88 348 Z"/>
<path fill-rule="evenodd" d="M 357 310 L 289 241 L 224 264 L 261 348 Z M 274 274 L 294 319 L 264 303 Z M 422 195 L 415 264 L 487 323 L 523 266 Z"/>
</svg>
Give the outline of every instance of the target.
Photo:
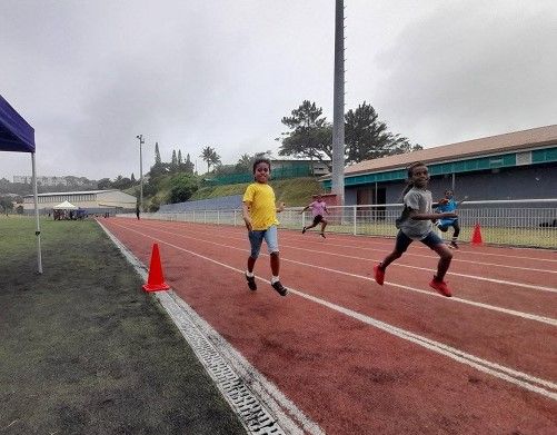
<svg viewBox="0 0 557 435">
<path fill-rule="evenodd" d="M 271 162 L 266 158 L 258 158 L 253 162 L 252 182 L 243 194 L 243 221 L 248 228 L 248 237 L 251 246 L 251 253 L 248 257 L 248 270 L 246 270 L 246 279 L 248 287 L 251 290 L 257 290 L 256 276 L 253 275 L 253 266 L 256 265 L 259 250 L 265 239 L 267 249 L 269 250 L 271 264 L 271 286 L 280 296 L 286 296 L 287 289 L 280 284 L 280 258 L 278 248 L 277 234 L 277 212 L 285 209 L 285 202 L 280 202 L 277 207 L 275 201 L 275 191 L 267 181 L 271 174 Z"/>
</svg>

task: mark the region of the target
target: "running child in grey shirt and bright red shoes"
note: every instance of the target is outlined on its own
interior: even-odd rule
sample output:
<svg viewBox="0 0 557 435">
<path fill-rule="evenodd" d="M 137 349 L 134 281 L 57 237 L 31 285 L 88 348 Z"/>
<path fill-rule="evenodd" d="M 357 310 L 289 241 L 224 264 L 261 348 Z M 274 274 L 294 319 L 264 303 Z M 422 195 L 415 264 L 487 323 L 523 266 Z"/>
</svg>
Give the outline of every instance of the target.
<svg viewBox="0 0 557 435">
<path fill-rule="evenodd" d="M 397 219 L 399 230 L 395 249 L 381 263 L 374 266 L 374 277 L 376 283 L 382 286 L 387 267 L 400 258 L 414 240 L 420 240 L 439 255 L 437 274 L 429 286 L 441 295 L 450 297 L 452 294 L 444 278 L 449 269 L 452 253 L 434 231 L 431 220 L 456 218 L 457 215 L 454 211 L 432 212 L 431 192 L 426 189 L 428 181 L 429 174 L 425 164 L 418 161 L 408 167 L 408 186 L 404 190 L 405 208 L 400 218 Z"/>
</svg>

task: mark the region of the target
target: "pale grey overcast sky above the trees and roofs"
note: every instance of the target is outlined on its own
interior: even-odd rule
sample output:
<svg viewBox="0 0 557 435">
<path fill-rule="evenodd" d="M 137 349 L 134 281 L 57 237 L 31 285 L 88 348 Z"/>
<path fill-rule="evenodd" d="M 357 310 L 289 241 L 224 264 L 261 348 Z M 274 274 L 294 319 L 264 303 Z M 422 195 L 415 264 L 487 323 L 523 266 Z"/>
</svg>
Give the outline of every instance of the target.
<svg viewBox="0 0 557 435">
<path fill-rule="evenodd" d="M 346 108 L 429 148 L 554 125 L 556 0 L 345 0 Z M 0 93 L 42 176 L 139 177 L 172 149 L 272 150 L 302 100 L 332 121 L 334 0 L 0 0 Z M 30 175 L 0 152 L 0 178 Z"/>
</svg>

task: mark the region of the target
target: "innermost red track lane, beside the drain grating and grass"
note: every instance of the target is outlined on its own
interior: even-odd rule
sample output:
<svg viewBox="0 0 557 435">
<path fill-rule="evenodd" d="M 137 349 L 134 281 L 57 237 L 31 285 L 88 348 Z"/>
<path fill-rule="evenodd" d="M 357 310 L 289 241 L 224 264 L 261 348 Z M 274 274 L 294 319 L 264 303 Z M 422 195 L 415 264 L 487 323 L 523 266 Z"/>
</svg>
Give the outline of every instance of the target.
<svg viewBox="0 0 557 435">
<path fill-rule="evenodd" d="M 131 233 L 129 227 L 120 228 L 121 233 Z M 139 245 L 133 250 L 143 255 L 150 250 L 151 238 L 138 241 L 137 234 L 126 237 L 131 246 Z M 525 395 L 519 388 L 501 386 L 490 376 L 447 364 L 446 358 L 298 297 L 280 298 L 270 287 L 261 286 L 253 295 L 245 289 L 238 271 L 227 271 L 183 253 L 177 255 L 168 247 L 161 247 L 161 255 L 166 270 L 170 270 L 167 275 L 187 281 L 181 287 L 176 284 L 183 298 L 203 317 L 209 317 L 289 397 L 317 413 L 316 419 L 328 433 L 533 428 L 544 433 L 555 424 L 550 417 L 555 411 L 553 403 Z M 231 255 L 241 257 L 238 270 L 243 269 L 246 256 Z M 143 261 L 148 264 L 148 255 Z M 260 261 L 258 268 L 263 267 L 263 258 Z M 344 368 L 340 374 L 339 367 Z M 461 397 L 462 388 L 466 397 Z M 426 401 L 421 399 L 424 395 Z M 366 399 L 361 401 L 362 397 Z M 483 401 L 505 403 L 505 407 L 486 409 L 480 405 Z M 525 413 L 521 422 L 516 421 L 518 412 Z"/>
</svg>

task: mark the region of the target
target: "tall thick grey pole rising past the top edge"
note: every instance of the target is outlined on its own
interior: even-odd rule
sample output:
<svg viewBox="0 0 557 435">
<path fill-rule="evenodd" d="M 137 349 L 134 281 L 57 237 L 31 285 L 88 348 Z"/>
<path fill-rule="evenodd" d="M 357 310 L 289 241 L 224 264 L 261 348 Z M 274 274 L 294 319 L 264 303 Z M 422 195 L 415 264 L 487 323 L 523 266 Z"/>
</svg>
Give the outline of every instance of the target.
<svg viewBox="0 0 557 435">
<path fill-rule="evenodd" d="M 335 8 L 335 91 L 332 97 L 332 176 L 331 190 L 337 205 L 345 205 L 345 4 Z"/>
</svg>

